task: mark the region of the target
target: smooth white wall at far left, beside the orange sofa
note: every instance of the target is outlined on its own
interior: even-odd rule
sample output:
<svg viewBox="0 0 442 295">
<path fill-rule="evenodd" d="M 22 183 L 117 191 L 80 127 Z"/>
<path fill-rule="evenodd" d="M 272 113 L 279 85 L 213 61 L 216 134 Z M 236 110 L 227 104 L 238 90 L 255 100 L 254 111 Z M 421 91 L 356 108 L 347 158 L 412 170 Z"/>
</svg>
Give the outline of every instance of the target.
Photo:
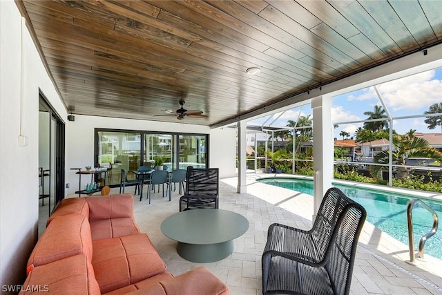
<svg viewBox="0 0 442 295">
<path fill-rule="evenodd" d="M 39 88 L 66 117 L 61 101 L 23 30 L 24 83 L 21 89 L 21 15 L 14 1 L 0 1 L 0 286 L 23 283 L 26 262 L 37 240 Z M 23 97 L 21 97 L 23 93 Z M 19 146 L 22 135 L 26 146 Z"/>
</svg>

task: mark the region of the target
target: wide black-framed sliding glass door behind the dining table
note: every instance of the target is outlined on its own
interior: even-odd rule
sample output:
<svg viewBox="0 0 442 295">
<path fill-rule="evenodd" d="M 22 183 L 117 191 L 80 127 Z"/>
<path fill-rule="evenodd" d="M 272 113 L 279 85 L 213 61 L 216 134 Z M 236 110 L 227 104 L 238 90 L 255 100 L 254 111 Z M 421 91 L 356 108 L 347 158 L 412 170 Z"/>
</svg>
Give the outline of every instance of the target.
<svg viewBox="0 0 442 295">
<path fill-rule="evenodd" d="M 106 184 L 119 185 L 122 169 L 137 170 L 139 166 L 162 159 L 168 169 L 204 168 L 209 135 L 157 133 L 95 129 L 95 159 L 97 166 L 110 168 Z M 134 173 L 126 173 L 128 179 Z"/>
</svg>

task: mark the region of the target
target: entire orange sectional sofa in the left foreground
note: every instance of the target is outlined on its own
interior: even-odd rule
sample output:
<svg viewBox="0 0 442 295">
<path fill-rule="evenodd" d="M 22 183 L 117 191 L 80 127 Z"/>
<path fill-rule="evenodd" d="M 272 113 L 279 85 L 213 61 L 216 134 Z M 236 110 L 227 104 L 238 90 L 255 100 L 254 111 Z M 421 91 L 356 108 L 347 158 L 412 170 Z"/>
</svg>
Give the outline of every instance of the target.
<svg viewBox="0 0 442 295">
<path fill-rule="evenodd" d="M 70 198 L 48 218 L 21 294 L 229 294 L 206 267 L 166 269 L 133 218 L 133 196 Z"/>
</svg>

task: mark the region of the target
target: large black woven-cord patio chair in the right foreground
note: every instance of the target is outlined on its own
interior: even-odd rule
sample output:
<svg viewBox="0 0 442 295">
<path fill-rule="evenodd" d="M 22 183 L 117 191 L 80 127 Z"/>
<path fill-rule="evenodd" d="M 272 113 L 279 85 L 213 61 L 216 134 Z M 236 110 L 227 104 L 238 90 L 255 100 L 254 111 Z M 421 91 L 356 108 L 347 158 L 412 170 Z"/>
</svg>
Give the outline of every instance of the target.
<svg viewBox="0 0 442 295">
<path fill-rule="evenodd" d="M 366 215 L 332 188 L 309 231 L 271 225 L 262 254 L 262 294 L 349 294 Z"/>
</svg>

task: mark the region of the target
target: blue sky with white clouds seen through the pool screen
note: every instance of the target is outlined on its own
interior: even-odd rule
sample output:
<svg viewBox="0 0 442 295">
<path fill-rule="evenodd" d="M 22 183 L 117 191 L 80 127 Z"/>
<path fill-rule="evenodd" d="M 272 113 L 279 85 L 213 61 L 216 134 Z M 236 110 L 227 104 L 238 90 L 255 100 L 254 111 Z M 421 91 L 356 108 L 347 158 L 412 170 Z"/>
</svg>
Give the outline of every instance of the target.
<svg viewBox="0 0 442 295">
<path fill-rule="evenodd" d="M 442 102 L 442 68 L 428 70 L 423 73 L 404 77 L 391 82 L 385 82 L 377 86 L 378 92 L 385 102 L 385 106 L 392 117 L 404 117 L 410 115 L 422 115 L 432 104 Z M 374 111 L 374 106 L 382 106 L 374 87 L 364 88 L 351 93 L 345 93 L 333 98 L 332 120 L 340 122 L 338 128 L 334 129 L 334 137 L 342 139 L 340 131 L 345 131 L 354 136 L 354 132 L 363 124 L 343 124 L 367 119 L 366 111 Z M 287 120 L 296 120 L 298 114 L 311 115 L 309 104 L 292 108 L 283 113 L 272 126 L 286 126 Z M 273 115 L 267 121 L 272 122 L 280 113 Z M 268 118 L 260 118 L 250 121 L 250 124 L 262 124 Z M 410 118 L 393 121 L 393 129 L 403 134 L 410 129 L 416 129 L 421 133 L 441 133 L 441 128 L 427 129 L 423 118 Z"/>
</svg>

